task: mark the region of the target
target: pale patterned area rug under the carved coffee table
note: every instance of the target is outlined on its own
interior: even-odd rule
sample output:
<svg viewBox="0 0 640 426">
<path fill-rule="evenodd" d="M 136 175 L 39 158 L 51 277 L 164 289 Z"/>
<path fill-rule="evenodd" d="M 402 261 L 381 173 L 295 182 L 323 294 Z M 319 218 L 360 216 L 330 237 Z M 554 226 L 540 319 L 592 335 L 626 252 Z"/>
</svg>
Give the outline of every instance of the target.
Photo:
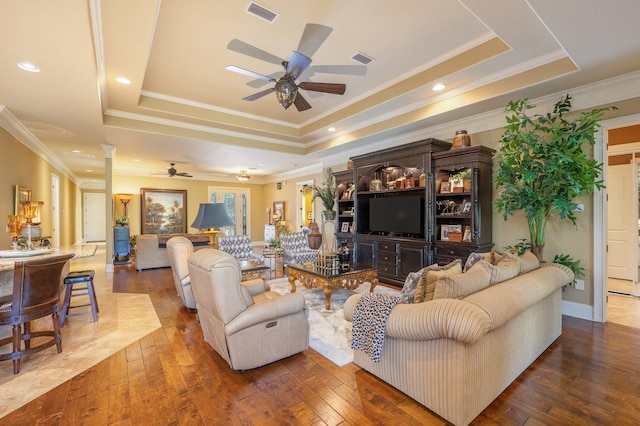
<svg viewBox="0 0 640 426">
<path fill-rule="evenodd" d="M 287 278 L 269 281 L 271 290 L 280 294 L 291 293 L 291 284 Z M 326 310 L 324 293 L 321 288 L 307 289 L 296 285 L 296 293 L 304 296 L 309 307 L 309 346 L 320 355 L 342 367 L 353 361 L 351 349 L 351 322 L 344 319 L 344 303 L 353 294 L 368 292 L 370 283 L 364 283 L 356 290 L 335 289 L 331 296 L 331 310 Z M 376 286 L 375 293 L 397 294 L 394 290 L 384 286 Z"/>
</svg>

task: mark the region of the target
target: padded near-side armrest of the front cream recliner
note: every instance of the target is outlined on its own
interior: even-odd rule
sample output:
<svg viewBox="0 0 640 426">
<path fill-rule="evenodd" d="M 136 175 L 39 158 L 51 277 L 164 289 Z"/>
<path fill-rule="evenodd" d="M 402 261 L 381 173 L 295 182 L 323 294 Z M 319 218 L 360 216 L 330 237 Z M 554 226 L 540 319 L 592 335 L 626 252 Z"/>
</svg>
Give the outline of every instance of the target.
<svg viewBox="0 0 640 426">
<path fill-rule="evenodd" d="M 225 331 L 231 336 L 261 322 L 277 320 L 302 312 L 304 309 L 306 309 L 304 296 L 298 293 L 283 294 L 281 297 L 249 306 L 225 326 Z"/>
</svg>

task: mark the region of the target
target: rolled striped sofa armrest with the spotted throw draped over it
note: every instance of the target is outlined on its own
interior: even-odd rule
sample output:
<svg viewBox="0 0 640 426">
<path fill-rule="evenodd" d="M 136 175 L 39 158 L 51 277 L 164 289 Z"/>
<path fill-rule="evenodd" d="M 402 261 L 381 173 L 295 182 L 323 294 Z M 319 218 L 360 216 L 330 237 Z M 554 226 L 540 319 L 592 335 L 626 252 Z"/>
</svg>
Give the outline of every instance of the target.
<svg viewBox="0 0 640 426">
<path fill-rule="evenodd" d="M 353 320 L 361 295 L 345 303 L 345 318 Z M 387 319 L 385 334 L 403 340 L 455 339 L 462 343 L 479 340 L 491 329 L 491 321 L 479 307 L 457 299 L 396 305 Z"/>
</svg>

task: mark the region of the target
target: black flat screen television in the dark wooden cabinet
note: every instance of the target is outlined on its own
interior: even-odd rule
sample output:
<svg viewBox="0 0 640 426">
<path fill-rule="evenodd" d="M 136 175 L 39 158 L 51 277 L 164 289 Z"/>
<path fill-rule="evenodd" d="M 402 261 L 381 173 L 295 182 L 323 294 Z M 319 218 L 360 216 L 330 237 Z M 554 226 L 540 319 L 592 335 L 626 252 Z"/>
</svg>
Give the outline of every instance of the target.
<svg viewBox="0 0 640 426">
<path fill-rule="evenodd" d="M 424 201 L 419 196 L 373 198 L 369 203 L 369 231 L 384 235 L 423 236 Z"/>
</svg>

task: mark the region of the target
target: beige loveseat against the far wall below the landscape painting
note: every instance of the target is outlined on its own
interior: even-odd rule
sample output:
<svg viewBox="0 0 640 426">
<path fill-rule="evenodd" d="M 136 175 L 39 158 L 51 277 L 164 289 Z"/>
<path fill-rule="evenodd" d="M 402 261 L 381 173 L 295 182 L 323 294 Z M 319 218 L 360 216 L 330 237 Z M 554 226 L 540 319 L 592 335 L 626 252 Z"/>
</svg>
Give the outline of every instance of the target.
<svg viewBox="0 0 640 426">
<path fill-rule="evenodd" d="M 208 247 L 209 237 L 203 234 L 143 234 L 136 239 L 136 269 L 142 271 L 150 268 L 168 268 L 169 255 L 166 242 L 172 237 L 186 237 L 199 250 Z"/>
</svg>

